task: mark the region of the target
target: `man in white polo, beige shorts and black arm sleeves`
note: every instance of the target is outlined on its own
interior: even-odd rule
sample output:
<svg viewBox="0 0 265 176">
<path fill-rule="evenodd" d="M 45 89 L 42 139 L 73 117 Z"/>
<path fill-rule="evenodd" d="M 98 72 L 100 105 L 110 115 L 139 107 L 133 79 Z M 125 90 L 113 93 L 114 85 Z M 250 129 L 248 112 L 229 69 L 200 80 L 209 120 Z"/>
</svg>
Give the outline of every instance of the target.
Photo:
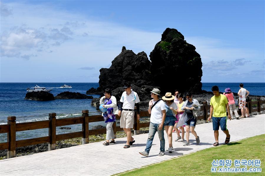
<svg viewBox="0 0 265 176">
<path fill-rule="evenodd" d="M 121 128 L 127 135 L 127 142 L 123 148 L 129 148 L 135 142 L 131 136 L 131 128 L 134 127 L 134 105 L 136 105 L 137 119 L 140 119 L 140 100 L 138 94 L 131 89 L 131 84 L 128 83 L 123 88 L 125 91 L 121 95 L 118 116 L 121 117 Z"/>
</svg>

